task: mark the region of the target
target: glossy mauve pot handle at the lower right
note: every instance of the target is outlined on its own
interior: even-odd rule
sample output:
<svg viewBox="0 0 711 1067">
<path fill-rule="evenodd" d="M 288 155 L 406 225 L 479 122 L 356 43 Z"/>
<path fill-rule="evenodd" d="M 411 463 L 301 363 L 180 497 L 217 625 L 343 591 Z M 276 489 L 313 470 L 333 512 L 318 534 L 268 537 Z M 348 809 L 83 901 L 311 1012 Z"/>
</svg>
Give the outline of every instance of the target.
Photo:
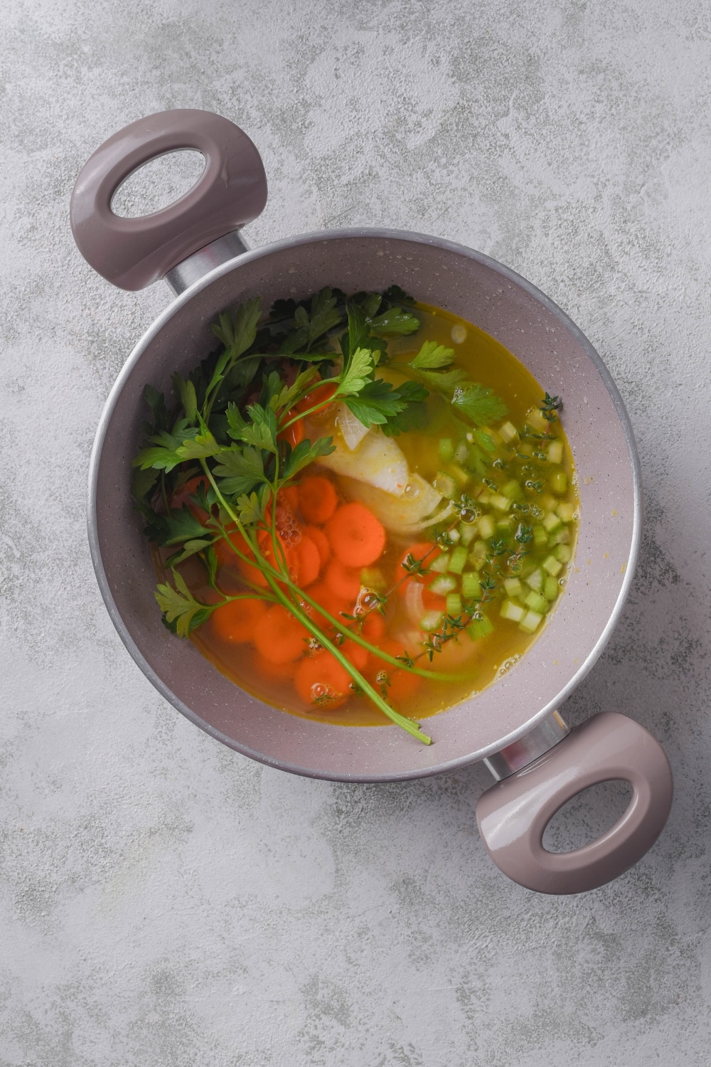
<svg viewBox="0 0 711 1067">
<path fill-rule="evenodd" d="M 547 851 L 543 835 L 555 812 L 589 785 L 616 779 L 633 790 L 621 818 L 583 848 Z M 489 856 L 514 881 L 538 893 L 582 893 L 617 878 L 651 848 L 672 793 L 661 745 L 626 715 L 602 712 L 483 793 L 476 821 Z"/>
</svg>

